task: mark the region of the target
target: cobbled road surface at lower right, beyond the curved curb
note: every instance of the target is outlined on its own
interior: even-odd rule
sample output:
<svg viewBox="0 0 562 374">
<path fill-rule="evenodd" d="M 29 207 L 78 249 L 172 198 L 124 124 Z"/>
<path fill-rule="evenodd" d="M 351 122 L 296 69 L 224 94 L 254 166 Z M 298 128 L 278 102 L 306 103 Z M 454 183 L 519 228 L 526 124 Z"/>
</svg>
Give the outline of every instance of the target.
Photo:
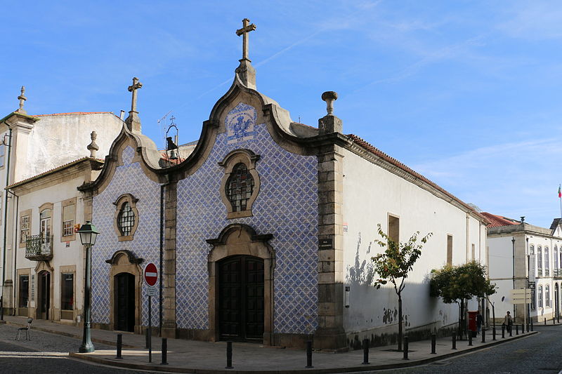
<svg viewBox="0 0 562 374">
<path fill-rule="evenodd" d="M 562 326 L 535 327 L 540 334 L 452 359 L 369 373 L 384 374 L 558 374 L 562 370 Z M 362 372 L 364 374 L 365 372 Z"/>
</svg>

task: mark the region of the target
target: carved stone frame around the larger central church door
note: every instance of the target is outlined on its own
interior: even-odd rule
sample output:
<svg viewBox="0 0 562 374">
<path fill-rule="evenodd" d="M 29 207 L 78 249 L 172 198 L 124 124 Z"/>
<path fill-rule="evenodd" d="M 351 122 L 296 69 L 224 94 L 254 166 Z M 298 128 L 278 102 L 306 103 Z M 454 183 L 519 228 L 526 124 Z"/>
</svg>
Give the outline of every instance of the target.
<svg viewBox="0 0 562 374">
<path fill-rule="evenodd" d="M 218 262 L 234 255 L 248 255 L 263 260 L 263 344 L 273 345 L 273 276 L 275 251 L 268 241 L 272 234 L 256 234 L 243 224 L 228 225 L 216 239 L 207 239 L 211 249 L 207 257 L 209 272 L 209 340 L 218 341 Z"/>
</svg>

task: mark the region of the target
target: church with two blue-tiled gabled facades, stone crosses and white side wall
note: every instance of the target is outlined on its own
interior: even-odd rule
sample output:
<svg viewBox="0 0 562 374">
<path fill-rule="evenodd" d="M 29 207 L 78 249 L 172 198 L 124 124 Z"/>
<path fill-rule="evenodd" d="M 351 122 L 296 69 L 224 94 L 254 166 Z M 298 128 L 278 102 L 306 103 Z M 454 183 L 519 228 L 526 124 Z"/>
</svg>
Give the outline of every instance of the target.
<svg viewBox="0 0 562 374">
<path fill-rule="evenodd" d="M 377 224 L 395 239 L 433 236 L 408 278 L 412 336 L 457 323 L 456 305 L 429 296 L 431 269 L 488 265 L 488 220 L 356 135 L 322 94 L 318 128 L 256 89 L 244 53 L 233 84 L 199 140 L 168 162 L 141 133 L 136 95 L 103 171 L 80 187 L 100 231 L 93 248 L 93 322 L 141 333 L 148 326 L 143 267 L 160 269 L 152 326 L 162 335 L 320 349 L 385 343 L 397 331 L 393 289 L 371 286 Z M 320 112 L 320 110 L 319 110 Z"/>
</svg>

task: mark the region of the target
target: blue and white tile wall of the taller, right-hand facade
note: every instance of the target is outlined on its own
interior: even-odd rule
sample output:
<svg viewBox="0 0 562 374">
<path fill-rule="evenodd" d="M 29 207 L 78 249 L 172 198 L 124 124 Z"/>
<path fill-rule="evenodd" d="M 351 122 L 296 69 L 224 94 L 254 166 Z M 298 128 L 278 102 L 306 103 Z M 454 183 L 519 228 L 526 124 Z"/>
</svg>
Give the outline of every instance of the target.
<svg viewBox="0 0 562 374">
<path fill-rule="evenodd" d="M 244 223 L 273 234 L 275 251 L 274 332 L 311 333 L 318 325 L 318 161 L 283 149 L 256 123 L 256 109 L 240 103 L 226 116 L 207 160 L 178 182 L 176 321 L 178 328 L 206 329 L 209 274 L 206 239 L 226 226 Z M 251 149 L 261 186 L 252 217 L 226 219 L 219 189 L 228 152 Z"/>
</svg>

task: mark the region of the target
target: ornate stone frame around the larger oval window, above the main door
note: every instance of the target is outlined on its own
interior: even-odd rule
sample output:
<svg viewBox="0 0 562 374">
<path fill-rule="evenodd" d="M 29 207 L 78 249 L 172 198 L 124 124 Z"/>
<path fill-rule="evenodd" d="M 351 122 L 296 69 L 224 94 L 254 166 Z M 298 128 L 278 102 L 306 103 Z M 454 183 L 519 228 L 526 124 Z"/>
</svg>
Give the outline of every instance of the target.
<svg viewBox="0 0 562 374">
<path fill-rule="evenodd" d="M 256 161 L 258 161 L 259 158 L 260 158 L 259 154 L 255 154 L 254 152 L 251 152 L 251 150 L 249 149 L 236 149 L 230 152 L 229 154 L 227 154 L 226 157 L 223 159 L 223 161 L 218 162 L 219 166 L 225 168 L 224 176 L 223 179 L 221 180 L 220 192 L 221 192 L 221 199 L 224 205 L 226 206 L 227 219 L 251 217 L 253 215 L 251 213 L 251 206 L 254 203 L 254 201 L 256 201 L 256 198 L 258 197 L 259 187 L 260 187 L 259 174 L 256 171 Z M 251 178 L 254 178 L 254 190 L 251 192 L 250 199 L 246 204 L 246 210 L 235 212 L 232 203 L 230 203 L 230 199 L 228 199 L 228 196 L 226 196 L 226 187 L 227 187 L 226 184 L 228 182 L 228 178 L 230 178 L 230 175 L 232 175 L 233 173 L 234 166 L 236 166 L 238 163 L 244 163 L 244 165 L 248 169 L 248 172 L 251 175 Z"/>
</svg>

